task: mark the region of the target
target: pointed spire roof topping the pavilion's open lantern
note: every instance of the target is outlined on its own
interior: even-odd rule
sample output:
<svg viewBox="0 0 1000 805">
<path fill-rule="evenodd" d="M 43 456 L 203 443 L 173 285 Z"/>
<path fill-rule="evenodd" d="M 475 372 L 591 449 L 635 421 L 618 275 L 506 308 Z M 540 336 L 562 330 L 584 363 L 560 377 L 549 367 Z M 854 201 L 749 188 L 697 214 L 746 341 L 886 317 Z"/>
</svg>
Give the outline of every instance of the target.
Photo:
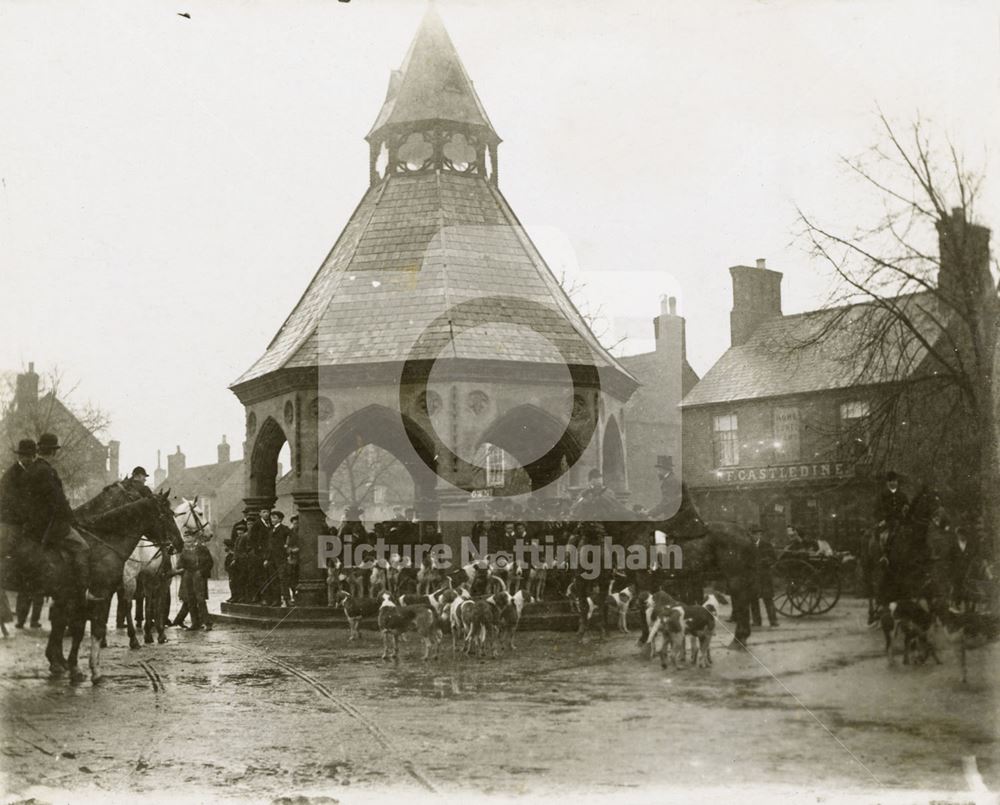
<svg viewBox="0 0 1000 805">
<path fill-rule="evenodd" d="M 392 72 L 385 103 L 366 139 L 380 139 L 387 127 L 430 120 L 473 126 L 490 141 L 500 141 L 433 6 L 428 7 L 402 66 Z"/>
</svg>

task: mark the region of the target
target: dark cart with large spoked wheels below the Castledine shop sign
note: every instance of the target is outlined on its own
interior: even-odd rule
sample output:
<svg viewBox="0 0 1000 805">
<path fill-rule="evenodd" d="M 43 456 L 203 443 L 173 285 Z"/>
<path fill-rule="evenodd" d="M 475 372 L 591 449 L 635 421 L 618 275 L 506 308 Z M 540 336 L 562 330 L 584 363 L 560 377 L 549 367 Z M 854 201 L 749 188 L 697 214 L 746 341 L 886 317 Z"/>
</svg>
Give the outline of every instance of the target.
<svg viewBox="0 0 1000 805">
<path fill-rule="evenodd" d="M 849 554 L 785 551 L 771 567 L 774 606 L 788 618 L 823 615 L 836 606 Z"/>
</svg>

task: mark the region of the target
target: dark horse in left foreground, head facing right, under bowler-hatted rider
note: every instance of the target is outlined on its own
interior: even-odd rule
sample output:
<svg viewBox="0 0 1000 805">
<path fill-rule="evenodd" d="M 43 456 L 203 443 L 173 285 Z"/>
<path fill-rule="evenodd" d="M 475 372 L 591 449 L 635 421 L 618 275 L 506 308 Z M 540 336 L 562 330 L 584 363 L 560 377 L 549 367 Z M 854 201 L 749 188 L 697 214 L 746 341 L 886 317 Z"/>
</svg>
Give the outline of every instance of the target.
<svg viewBox="0 0 1000 805">
<path fill-rule="evenodd" d="M 88 517 L 87 527 L 77 529 L 90 546 L 92 584 L 96 589 L 109 591 L 119 585 L 125 563 L 144 535 L 158 545 L 180 547 L 182 544 L 165 493 L 143 496 L 95 514 L 106 509 L 108 499 L 118 494 L 112 487 L 105 488 L 86 507 L 81 507 Z M 40 591 L 52 596 L 49 610 L 52 630 L 45 648 L 49 672 L 53 677 L 60 677 L 68 671 L 71 682 L 83 681 L 85 675 L 77 667 L 77 658 L 89 621 L 90 678 L 97 685 L 104 679 L 100 671 L 100 650 L 107 633 L 110 596 L 101 601 L 87 601 L 67 557 L 53 548 L 44 549 L 43 557 Z M 67 629 L 72 638 L 68 658 L 63 655 L 62 645 Z"/>
</svg>

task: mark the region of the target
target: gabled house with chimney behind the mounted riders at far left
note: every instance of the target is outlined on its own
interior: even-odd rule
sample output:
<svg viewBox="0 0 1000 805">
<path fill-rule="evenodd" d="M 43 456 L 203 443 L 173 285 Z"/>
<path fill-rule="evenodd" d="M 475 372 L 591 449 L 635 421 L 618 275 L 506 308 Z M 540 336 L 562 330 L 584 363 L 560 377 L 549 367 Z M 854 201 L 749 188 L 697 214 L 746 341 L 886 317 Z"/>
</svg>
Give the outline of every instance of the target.
<svg viewBox="0 0 1000 805">
<path fill-rule="evenodd" d="M 40 394 L 39 376 L 33 363 L 28 364 L 27 372 L 17 375 L 14 395 L 3 412 L 0 427 L 11 448 L 20 439 L 37 440 L 43 433 L 59 437 L 63 448 L 59 455 L 59 475 L 74 506 L 90 500 L 107 484 L 119 479 L 119 442 L 101 442 L 92 431 L 94 423 L 81 421 L 54 391 Z"/>
</svg>

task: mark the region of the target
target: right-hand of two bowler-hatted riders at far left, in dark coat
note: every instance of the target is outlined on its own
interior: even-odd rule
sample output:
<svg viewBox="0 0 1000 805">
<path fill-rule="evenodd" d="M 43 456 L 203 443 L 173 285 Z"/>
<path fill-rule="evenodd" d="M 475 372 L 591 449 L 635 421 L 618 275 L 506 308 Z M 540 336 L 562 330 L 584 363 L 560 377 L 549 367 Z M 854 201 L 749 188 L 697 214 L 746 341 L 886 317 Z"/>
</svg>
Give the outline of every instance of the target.
<svg viewBox="0 0 1000 805">
<path fill-rule="evenodd" d="M 73 528 L 73 509 L 66 499 L 62 480 L 52 462 L 61 449 L 59 438 L 43 433 L 38 440 L 38 458 L 26 477 L 28 519 L 25 536 L 41 542 L 43 548 L 65 548 L 87 601 L 99 601 L 103 591 L 90 589 L 90 546 Z"/>
</svg>

